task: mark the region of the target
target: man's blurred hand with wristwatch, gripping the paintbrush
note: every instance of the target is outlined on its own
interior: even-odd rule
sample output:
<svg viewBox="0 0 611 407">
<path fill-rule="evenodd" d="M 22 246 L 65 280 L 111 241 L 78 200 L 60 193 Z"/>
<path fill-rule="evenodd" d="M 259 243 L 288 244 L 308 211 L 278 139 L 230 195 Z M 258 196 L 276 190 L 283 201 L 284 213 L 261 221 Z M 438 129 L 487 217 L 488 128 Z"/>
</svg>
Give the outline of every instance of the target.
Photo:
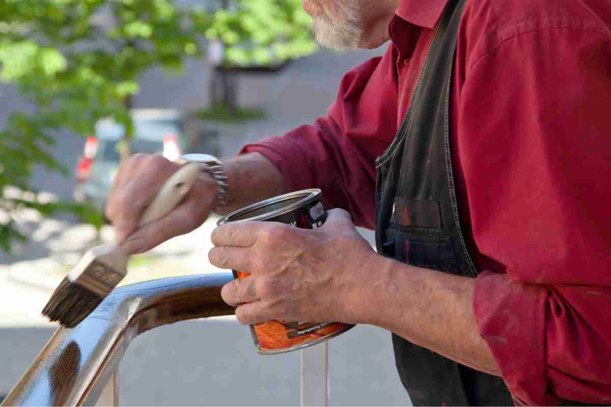
<svg viewBox="0 0 611 407">
<path fill-rule="evenodd" d="M 216 182 L 202 173 L 185 199 L 165 217 L 138 228 L 144 209 L 179 164 L 158 155 L 135 154 L 123 162 L 106 203 L 106 217 L 117 232 L 117 241 L 128 253 L 142 253 L 172 237 L 201 225 L 216 200 Z"/>
</svg>

